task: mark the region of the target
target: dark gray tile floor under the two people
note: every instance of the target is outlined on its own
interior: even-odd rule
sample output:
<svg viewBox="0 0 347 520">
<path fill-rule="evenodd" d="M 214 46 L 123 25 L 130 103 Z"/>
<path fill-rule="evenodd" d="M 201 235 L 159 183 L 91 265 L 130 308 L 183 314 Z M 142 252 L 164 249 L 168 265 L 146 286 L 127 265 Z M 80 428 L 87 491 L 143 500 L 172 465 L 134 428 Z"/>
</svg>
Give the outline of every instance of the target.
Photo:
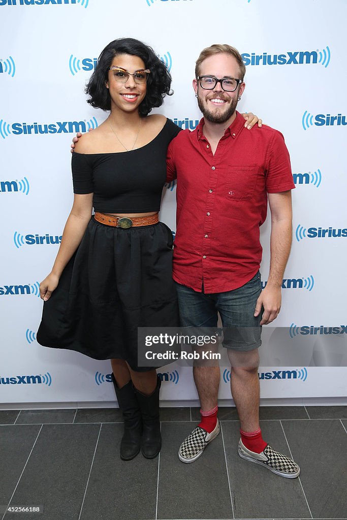
<svg viewBox="0 0 347 520">
<path fill-rule="evenodd" d="M 163 448 L 119 459 L 118 409 L 0 410 L 0 520 L 8 506 L 43 506 L 25 520 L 347 519 L 347 407 L 262 407 L 263 437 L 301 466 L 297 479 L 238 457 L 235 408 L 199 460 L 179 444 L 198 408 L 162 408 Z"/>
</svg>

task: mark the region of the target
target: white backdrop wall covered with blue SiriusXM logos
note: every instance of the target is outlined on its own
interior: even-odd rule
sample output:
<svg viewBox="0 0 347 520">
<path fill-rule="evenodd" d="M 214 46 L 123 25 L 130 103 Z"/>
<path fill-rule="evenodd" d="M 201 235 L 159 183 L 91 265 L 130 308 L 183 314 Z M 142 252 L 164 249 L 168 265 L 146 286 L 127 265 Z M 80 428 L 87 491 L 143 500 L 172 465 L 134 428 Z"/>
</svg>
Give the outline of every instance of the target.
<svg viewBox="0 0 347 520">
<path fill-rule="evenodd" d="M 87 105 L 84 85 L 101 49 L 125 36 L 150 44 L 171 68 L 175 94 L 160 111 L 184 128 L 200 119 L 191 88 L 200 50 L 229 43 L 244 55 L 238 109 L 285 135 L 297 185 L 276 326 L 288 328 L 286 348 L 313 353 L 290 376 L 288 367 L 261 367 L 262 397 L 346 396 L 345 356 L 314 355 L 337 337 L 333 330 L 345 337 L 346 17 L 345 0 L 0 0 L 0 402 L 114 400 L 109 361 L 42 347 L 35 333 L 38 282 L 72 204 L 70 141 L 107 116 Z M 172 229 L 175 191 L 164 189 L 161 211 Z M 264 281 L 269 231 L 267 220 Z M 326 329 L 306 335 L 311 326 Z M 197 398 L 189 367 L 160 372 L 163 400 Z M 229 379 L 225 367 L 221 398 L 230 396 Z"/>
</svg>

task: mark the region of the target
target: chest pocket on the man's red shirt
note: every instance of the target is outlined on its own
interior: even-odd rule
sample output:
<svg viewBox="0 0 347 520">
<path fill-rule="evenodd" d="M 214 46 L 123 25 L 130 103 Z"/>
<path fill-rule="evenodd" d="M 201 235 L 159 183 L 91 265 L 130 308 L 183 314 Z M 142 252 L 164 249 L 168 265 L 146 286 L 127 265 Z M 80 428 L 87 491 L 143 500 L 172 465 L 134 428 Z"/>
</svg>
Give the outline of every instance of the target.
<svg viewBox="0 0 347 520">
<path fill-rule="evenodd" d="M 259 171 L 259 166 L 229 165 L 227 172 L 227 198 L 230 201 L 251 199 Z"/>
</svg>

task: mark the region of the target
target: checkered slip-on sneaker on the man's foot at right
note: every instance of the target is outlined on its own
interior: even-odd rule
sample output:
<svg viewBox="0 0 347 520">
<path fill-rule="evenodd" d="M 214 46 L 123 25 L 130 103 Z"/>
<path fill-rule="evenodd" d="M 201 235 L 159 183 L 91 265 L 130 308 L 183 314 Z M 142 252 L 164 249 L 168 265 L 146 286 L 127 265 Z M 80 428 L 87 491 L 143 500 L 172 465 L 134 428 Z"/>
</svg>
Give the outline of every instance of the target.
<svg viewBox="0 0 347 520">
<path fill-rule="evenodd" d="M 269 444 L 265 447 L 264 451 L 255 453 L 247 449 L 240 439 L 238 451 L 242 459 L 255 462 L 255 464 L 261 464 L 281 477 L 296 478 L 300 475 L 300 467 L 298 464 L 282 453 L 273 450 Z"/>
</svg>

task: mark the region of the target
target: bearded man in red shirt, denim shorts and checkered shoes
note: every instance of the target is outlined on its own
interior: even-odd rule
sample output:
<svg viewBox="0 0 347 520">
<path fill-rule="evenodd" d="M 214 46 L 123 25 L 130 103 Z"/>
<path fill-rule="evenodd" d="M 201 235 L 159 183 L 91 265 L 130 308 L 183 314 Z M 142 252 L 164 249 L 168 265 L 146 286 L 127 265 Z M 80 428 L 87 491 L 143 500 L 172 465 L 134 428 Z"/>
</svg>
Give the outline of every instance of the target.
<svg viewBox="0 0 347 520">
<path fill-rule="evenodd" d="M 299 466 L 263 440 L 258 378 L 261 326 L 281 306 L 281 284 L 291 246 L 288 150 L 273 128 L 245 130 L 236 112 L 245 90 L 245 64 L 229 45 L 200 53 L 193 87 L 203 114 L 168 149 L 168 181 L 177 177 L 177 229 L 173 278 L 183 327 L 217 326 L 220 313 L 231 364 L 231 390 L 239 414 L 240 457 L 277 475 L 297 477 Z M 271 211 L 271 261 L 261 288 L 259 228 Z M 201 422 L 179 448 L 179 459 L 197 460 L 220 432 L 219 366 L 195 366 Z"/>
</svg>

